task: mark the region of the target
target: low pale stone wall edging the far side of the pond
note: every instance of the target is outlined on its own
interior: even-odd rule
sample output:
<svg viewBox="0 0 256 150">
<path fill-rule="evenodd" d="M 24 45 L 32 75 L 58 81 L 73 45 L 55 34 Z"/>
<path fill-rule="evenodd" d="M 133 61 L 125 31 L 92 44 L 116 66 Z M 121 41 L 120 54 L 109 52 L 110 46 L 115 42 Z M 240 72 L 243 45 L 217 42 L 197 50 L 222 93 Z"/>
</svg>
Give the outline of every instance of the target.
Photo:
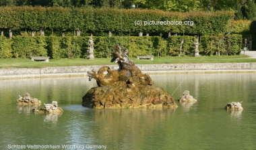
<svg viewBox="0 0 256 150">
<path fill-rule="evenodd" d="M 107 65 L 112 70 L 119 66 Z M 184 72 L 256 72 L 256 63 L 212 63 L 212 64 L 137 64 L 142 72 L 184 73 Z M 102 66 L 69 66 L 47 68 L 11 68 L 0 69 L 0 78 L 36 78 L 46 76 L 87 76 L 87 72 Z"/>
</svg>

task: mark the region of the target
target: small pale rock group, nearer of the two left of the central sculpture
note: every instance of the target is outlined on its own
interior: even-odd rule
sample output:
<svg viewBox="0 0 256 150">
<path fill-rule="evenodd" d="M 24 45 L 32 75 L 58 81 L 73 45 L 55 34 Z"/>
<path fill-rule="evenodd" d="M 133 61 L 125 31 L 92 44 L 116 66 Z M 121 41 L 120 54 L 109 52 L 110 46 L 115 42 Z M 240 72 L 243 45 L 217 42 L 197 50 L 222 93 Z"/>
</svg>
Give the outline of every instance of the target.
<svg viewBox="0 0 256 150">
<path fill-rule="evenodd" d="M 62 108 L 58 107 L 58 102 L 53 101 L 51 104 L 44 104 L 42 108 L 37 110 L 36 108 L 32 110 L 36 113 L 62 113 Z"/>
</svg>

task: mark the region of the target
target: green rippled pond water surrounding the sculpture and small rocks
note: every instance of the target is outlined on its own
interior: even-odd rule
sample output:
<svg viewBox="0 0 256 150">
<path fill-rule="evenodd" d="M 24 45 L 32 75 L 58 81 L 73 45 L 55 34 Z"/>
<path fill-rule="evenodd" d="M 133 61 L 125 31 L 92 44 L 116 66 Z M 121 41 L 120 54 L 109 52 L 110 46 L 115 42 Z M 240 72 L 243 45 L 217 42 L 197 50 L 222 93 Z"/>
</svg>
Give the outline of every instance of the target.
<svg viewBox="0 0 256 150">
<path fill-rule="evenodd" d="M 256 74 L 151 75 L 176 100 L 185 90 L 198 101 L 178 108 L 91 109 L 82 96 L 88 77 L 0 80 L 0 149 L 256 149 Z M 29 92 L 56 100 L 62 115 L 18 106 Z M 226 111 L 243 101 L 243 111 Z M 38 106 L 38 109 L 43 104 Z"/>
</svg>

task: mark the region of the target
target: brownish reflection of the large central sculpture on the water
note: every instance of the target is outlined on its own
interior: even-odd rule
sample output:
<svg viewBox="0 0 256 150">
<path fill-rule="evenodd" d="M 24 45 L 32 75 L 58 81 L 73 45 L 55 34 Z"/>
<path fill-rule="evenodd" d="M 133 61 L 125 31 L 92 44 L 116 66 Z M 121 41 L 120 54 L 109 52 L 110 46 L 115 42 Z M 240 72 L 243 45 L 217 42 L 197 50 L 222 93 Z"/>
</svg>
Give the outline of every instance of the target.
<svg viewBox="0 0 256 150">
<path fill-rule="evenodd" d="M 92 116 L 96 124 L 92 127 L 91 134 L 100 141 L 119 143 L 119 146 L 139 144 L 145 140 L 150 142 L 153 137 L 162 134 L 158 129 L 165 127 L 166 121 L 172 120 L 175 110 L 176 108 L 95 110 Z"/>
</svg>

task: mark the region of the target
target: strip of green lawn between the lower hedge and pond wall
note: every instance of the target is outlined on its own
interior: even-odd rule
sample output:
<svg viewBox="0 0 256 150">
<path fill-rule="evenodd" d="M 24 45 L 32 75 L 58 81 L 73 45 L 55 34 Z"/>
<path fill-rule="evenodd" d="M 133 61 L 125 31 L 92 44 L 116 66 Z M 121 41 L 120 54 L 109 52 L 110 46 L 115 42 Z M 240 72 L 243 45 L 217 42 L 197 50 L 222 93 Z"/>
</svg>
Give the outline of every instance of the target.
<svg viewBox="0 0 256 150">
<path fill-rule="evenodd" d="M 50 62 L 38 62 L 30 59 L 22 58 L 9 58 L 0 59 L 0 68 L 44 68 L 55 66 L 88 66 L 88 65 L 110 65 L 115 64 L 110 62 L 111 58 L 95 58 L 94 60 L 87 60 L 83 58 L 75 59 L 59 59 L 52 60 Z M 255 58 L 249 58 L 249 56 L 201 56 L 198 58 L 184 56 L 166 56 L 166 57 L 154 57 L 154 60 L 137 60 L 137 58 L 131 58 L 135 64 L 195 64 L 195 63 L 228 63 L 228 62 L 256 62 Z"/>
</svg>

